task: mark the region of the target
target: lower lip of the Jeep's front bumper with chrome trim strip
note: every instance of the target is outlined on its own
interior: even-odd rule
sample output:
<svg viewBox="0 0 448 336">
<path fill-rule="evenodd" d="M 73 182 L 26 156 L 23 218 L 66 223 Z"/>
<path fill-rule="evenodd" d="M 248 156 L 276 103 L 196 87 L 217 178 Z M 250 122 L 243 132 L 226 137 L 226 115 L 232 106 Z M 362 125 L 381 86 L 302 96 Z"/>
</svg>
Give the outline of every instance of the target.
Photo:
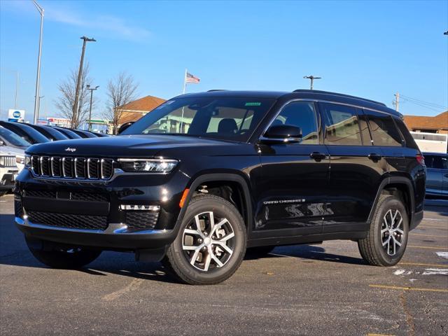
<svg viewBox="0 0 448 336">
<path fill-rule="evenodd" d="M 15 217 L 15 225 L 25 235 L 34 239 L 53 241 L 76 246 L 92 246 L 104 250 L 128 250 L 165 248 L 176 238 L 174 230 L 144 230 L 128 232 L 126 225 L 109 224 L 102 230 L 55 228 L 31 223 L 28 219 Z"/>
</svg>

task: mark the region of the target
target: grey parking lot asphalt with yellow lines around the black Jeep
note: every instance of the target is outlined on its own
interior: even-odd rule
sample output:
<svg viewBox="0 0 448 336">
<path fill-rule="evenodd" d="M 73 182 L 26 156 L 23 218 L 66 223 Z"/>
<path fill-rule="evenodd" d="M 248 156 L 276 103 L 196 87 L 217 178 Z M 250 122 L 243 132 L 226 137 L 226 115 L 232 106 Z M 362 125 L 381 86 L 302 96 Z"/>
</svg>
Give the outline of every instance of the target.
<svg viewBox="0 0 448 336">
<path fill-rule="evenodd" d="M 447 258 L 448 203 L 433 201 L 395 267 L 366 265 L 356 242 L 338 240 L 246 258 L 216 286 L 177 283 L 132 253 L 49 269 L 29 253 L 6 195 L 0 334 L 448 335 Z"/>
</svg>

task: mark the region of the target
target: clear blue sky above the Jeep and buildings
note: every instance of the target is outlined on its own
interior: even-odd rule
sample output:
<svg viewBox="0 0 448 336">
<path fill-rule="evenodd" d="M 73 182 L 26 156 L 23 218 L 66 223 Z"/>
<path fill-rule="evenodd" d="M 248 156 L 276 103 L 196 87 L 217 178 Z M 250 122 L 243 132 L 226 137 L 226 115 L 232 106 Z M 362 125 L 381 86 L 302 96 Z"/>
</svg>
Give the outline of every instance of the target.
<svg viewBox="0 0 448 336">
<path fill-rule="evenodd" d="M 57 116 L 57 83 L 77 69 L 87 45 L 92 85 L 106 109 L 106 84 L 120 71 L 139 96 L 181 93 L 186 68 L 201 78 L 188 92 L 316 90 L 379 100 L 393 94 L 404 114 L 448 106 L 448 1 L 39 1 L 45 8 L 41 116 Z M 14 106 L 32 119 L 39 16 L 30 0 L 0 0 L 0 118 Z M 440 106 L 440 107 L 439 107 Z"/>
</svg>

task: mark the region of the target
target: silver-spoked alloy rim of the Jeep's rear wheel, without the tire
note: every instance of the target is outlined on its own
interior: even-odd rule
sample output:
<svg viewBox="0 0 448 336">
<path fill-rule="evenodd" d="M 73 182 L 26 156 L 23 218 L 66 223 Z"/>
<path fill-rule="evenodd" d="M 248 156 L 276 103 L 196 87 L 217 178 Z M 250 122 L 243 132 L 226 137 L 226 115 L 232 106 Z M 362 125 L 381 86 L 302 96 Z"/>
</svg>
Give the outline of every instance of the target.
<svg viewBox="0 0 448 336">
<path fill-rule="evenodd" d="M 397 209 L 389 209 L 381 225 L 381 244 L 388 255 L 395 255 L 403 241 L 403 218 Z"/>
</svg>

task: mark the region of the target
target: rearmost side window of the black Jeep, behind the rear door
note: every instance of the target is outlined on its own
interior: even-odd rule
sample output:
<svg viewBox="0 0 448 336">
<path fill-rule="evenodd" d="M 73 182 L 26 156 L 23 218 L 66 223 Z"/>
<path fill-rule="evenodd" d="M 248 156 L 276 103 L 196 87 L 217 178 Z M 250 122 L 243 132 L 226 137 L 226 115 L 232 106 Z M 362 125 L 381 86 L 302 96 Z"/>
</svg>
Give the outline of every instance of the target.
<svg viewBox="0 0 448 336">
<path fill-rule="evenodd" d="M 364 113 L 369 119 L 374 146 L 402 146 L 400 133 L 391 116 L 369 110 L 364 110 Z"/>
</svg>

